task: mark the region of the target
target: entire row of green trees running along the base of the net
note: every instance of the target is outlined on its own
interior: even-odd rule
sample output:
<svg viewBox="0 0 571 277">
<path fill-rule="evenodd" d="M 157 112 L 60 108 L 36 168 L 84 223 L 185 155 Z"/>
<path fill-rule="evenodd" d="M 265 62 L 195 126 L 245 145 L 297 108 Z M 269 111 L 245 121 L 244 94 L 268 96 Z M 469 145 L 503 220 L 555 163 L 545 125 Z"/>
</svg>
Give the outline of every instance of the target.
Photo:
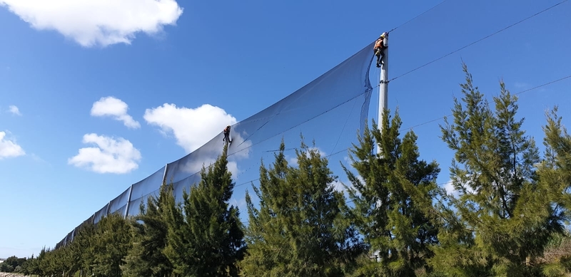
<svg viewBox="0 0 571 277">
<path fill-rule="evenodd" d="M 348 199 L 315 147 L 302 137 L 290 164 L 282 142 L 246 193 L 246 226 L 228 204 L 225 147 L 181 203 L 165 183 L 138 216 L 106 216 L 16 266 L 37 276 L 566 276 L 571 253 L 547 253 L 569 241 L 571 136 L 554 108 L 540 154 L 516 96 L 500 82 L 490 105 L 463 69 L 462 98 L 440 125 L 454 194 L 420 159 L 415 133 L 400 134 L 398 111 L 385 111 L 343 166 Z"/>
</svg>

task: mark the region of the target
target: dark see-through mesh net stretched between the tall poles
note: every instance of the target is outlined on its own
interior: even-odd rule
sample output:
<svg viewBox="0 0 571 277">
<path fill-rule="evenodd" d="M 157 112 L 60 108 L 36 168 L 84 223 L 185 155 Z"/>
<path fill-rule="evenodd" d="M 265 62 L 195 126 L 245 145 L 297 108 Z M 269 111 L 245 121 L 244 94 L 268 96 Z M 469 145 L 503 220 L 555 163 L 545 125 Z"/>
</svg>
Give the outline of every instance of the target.
<svg viewBox="0 0 571 277">
<path fill-rule="evenodd" d="M 295 159 L 294 150 L 303 135 L 308 145 L 314 141 L 321 155 L 328 157 L 333 172 L 343 172 L 340 162 L 345 162 L 348 147 L 357 140 L 357 131 L 363 130 L 369 114 L 373 92 L 369 70 L 373 58 L 371 43 L 303 88 L 231 126 L 228 169 L 236 182 L 231 204 L 240 206 L 238 202 L 244 199 L 249 185 L 256 185 L 261 161 L 272 162 L 282 140 L 290 161 Z M 213 164 L 222 154 L 226 143 L 223 142 L 224 127 L 202 147 L 132 184 L 80 226 L 89 222 L 97 224 L 106 214 L 135 216 L 141 203 L 146 204 L 150 196 L 158 196 L 163 181 L 173 183 L 176 200 L 181 202 L 183 190 L 188 192 L 191 185 L 200 181 L 202 167 Z M 56 248 L 72 241 L 78 228 Z"/>
</svg>

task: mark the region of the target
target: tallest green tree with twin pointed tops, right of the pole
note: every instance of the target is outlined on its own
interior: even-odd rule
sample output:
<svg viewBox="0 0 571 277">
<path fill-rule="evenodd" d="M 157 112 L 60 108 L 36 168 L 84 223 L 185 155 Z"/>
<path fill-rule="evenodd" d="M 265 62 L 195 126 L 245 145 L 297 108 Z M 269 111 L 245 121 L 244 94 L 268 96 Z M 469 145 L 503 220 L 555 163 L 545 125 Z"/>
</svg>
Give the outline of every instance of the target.
<svg viewBox="0 0 571 277">
<path fill-rule="evenodd" d="M 538 181 L 537 147 L 525 136 L 517 98 L 504 83 L 492 110 L 463 69 L 454 122 L 441 126 L 455 151 L 450 176 L 458 197 L 450 195 L 449 207 L 439 205 L 440 246 L 430 263 L 448 276 L 542 276 L 538 258 L 563 231 L 563 218 L 550 187 Z"/>
</svg>

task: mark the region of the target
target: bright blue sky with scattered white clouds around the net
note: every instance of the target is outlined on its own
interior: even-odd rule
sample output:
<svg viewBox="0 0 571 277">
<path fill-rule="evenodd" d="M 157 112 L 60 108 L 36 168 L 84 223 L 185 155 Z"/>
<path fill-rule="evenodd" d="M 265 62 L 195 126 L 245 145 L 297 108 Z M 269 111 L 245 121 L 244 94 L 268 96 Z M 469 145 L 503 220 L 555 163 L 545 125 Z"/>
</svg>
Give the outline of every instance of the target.
<svg viewBox="0 0 571 277">
<path fill-rule="evenodd" d="M 400 26 L 440 1 L 0 0 L 0 257 L 54 246 L 220 125 L 281 100 L 383 31 L 400 26 L 390 33 L 394 78 L 558 2 L 448 0 Z M 566 2 L 393 80 L 389 108 L 403 127 L 450 114 L 461 61 L 490 99 L 499 80 L 517 93 L 570 75 L 570 11 Z M 570 85 L 520 95 L 538 145 L 545 110 L 560 105 L 569 122 Z M 413 130 L 443 183 L 453 153 L 438 138 L 442 122 Z"/>
</svg>

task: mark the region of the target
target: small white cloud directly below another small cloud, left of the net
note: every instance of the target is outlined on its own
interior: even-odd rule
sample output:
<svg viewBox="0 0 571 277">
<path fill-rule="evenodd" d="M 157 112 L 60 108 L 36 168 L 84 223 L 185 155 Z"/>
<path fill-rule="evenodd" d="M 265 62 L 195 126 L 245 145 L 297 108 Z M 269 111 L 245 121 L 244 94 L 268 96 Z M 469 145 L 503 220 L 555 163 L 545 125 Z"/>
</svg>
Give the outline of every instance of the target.
<svg viewBox="0 0 571 277">
<path fill-rule="evenodd" d="M 81 148 L 78 155 L 69 158 L 69 164 L 86 167 L 98 173 L 123 174 L 138 168 L 141 152 L 123 137 L 115 140 L 103 135 L 86 134 L 83 142 L 97 147 Z"/>
</svg>

